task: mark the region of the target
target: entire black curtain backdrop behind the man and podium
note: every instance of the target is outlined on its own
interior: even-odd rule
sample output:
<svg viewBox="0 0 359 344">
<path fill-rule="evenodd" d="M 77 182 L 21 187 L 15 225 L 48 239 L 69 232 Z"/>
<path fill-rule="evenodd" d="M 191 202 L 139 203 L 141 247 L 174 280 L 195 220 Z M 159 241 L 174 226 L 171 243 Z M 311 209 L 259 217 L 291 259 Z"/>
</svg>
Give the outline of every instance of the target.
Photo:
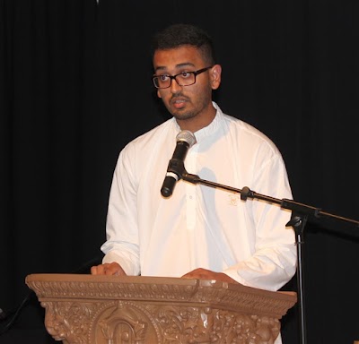
<svg viewBox="0 0 359 344">
<path fill-rule="evenodd" d="M 215 100 L 276 142 L 294 199 L 321 209 L 302 244 L 308 343 L 359 340 L 359 2 L 0 4 L 0 308 L 21 304 L 30 273 L 100 262 L 118 151 L 169 117 L 151 83 L 151 36 L 192 22 L 223 65 Z M 35 312 L 43 327 L 29 304 L 0 343 L 31 330 Z M 285 344 L 298 342 L 297 318 L 294 307 L 283 319 Z M 41 334 L 35 343 L 51 342 Z"/>
</svg>

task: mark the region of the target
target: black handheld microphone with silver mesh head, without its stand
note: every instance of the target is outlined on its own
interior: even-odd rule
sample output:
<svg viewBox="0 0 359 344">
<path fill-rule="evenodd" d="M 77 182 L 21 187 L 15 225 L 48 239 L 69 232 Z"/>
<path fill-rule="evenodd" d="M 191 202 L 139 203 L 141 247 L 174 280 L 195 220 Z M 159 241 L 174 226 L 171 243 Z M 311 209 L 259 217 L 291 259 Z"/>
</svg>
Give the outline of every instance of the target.
<svg viewBox="0 0 359 344">
<path fill-rule="evenodd" d="M 172 159 L 169 162 L 167 173 L 164 178 L 161 194 L 163 197 L 170 197 L 173 193 L 174 186 L 185 172 L 184 160 L 189 148 L 197 141 L 194 133 L 189 130 L 182 130 L 176 136 L 176 149 L 173 152 Z"/>
</svg>

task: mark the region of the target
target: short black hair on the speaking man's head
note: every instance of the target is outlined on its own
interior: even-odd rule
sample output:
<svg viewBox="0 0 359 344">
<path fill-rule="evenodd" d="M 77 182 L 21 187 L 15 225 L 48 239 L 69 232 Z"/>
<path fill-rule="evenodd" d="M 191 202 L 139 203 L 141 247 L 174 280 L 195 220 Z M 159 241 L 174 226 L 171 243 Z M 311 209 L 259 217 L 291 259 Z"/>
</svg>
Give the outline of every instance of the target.
<svg viewBox="0 0 359 344">
<path fill-rule="evenodd" d="M 181 46 L 197 47 L 208 64 L 215 64 L 215 48 L 209 34 L 192 24 L 172 24 L 153 36 L 152 57 L 156 50 Z"/>
</svg>

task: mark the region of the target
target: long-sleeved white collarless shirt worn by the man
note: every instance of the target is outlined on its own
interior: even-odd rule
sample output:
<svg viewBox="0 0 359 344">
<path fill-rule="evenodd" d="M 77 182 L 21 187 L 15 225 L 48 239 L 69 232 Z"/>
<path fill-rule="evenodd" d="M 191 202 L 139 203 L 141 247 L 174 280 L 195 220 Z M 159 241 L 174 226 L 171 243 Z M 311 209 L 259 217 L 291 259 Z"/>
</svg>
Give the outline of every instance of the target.
<svg viewBox="0 0 359 344">
<path fill-rule="evenodd" d="M 264 133 L 217 110 L 195 133 L 189 174 L 278 199 L 292 199 L 285 163 Z M 241 201 L 240 193 L 180 180 L 160 192 L 180 126 L 174 118 L 120 152 L 109 194 L 103 262 L 127 275 L 180 277 L 196 268 L 222 271 L 245 286 L 277 290 L 293 277 L 291 213 L 279 205 Z"/>
</svg>

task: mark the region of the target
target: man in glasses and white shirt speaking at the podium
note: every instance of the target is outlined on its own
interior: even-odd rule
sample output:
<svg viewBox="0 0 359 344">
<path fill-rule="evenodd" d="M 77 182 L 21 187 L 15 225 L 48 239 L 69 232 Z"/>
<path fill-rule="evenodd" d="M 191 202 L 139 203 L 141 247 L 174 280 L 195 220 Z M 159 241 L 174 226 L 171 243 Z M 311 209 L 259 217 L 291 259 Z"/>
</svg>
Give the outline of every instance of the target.
<svg viewBox="0 0 359 344">
<path fill-rule="evenodd" d="M 221 280 L 278 290 L 296 268 L 293 228 L 285 227 L 290 211 L 189 183 L 173 173 L 169 161 L 180 152 L 188 174 L 292 199 L 281 153 L 264 133 L 223 114 L 212 100 L 222 67 L 204 30 L 174 24 L 157 33 L 153 69 L 153 85 L 172 117 L 119 153 L 101 246 L 105 256 L 92 274 Z M 180 148 L 176 137 L 183 131 L 193 133 L 195 142 L 185 139 L 187 146 Z M 162 193 L 171 179 L 170 190 Z"/>
</svg>

